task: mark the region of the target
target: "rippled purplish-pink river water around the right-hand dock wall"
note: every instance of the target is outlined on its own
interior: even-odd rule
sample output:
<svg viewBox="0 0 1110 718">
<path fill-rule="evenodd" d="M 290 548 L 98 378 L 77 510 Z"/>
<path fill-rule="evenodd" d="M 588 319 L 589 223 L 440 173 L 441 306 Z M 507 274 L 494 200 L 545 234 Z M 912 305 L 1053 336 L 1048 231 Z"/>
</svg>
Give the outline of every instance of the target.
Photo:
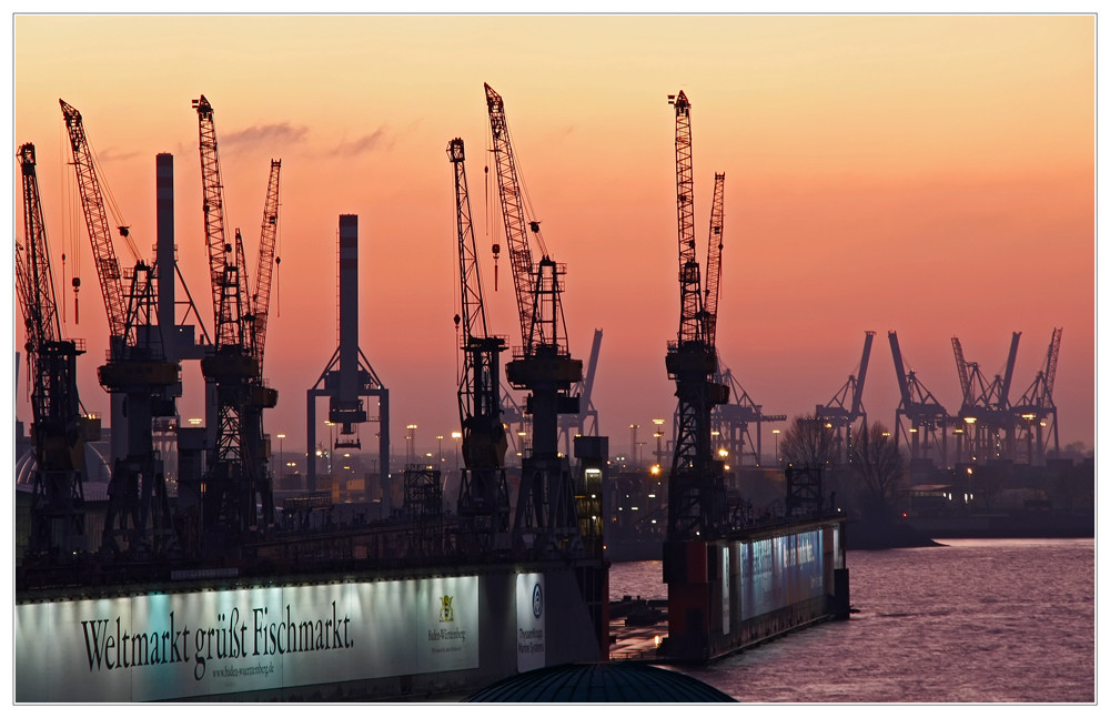
<svg viewBox="0 0 1110 718">
<path fill-rule="evenodd" d="M 942 543 L 849 552 L 849 620 L 679 670 L 757 704 L 1094 702 L 1094 539 Z M 666 598 L 662 563 L 614 564 L 625 595 Z"/>
</svg>

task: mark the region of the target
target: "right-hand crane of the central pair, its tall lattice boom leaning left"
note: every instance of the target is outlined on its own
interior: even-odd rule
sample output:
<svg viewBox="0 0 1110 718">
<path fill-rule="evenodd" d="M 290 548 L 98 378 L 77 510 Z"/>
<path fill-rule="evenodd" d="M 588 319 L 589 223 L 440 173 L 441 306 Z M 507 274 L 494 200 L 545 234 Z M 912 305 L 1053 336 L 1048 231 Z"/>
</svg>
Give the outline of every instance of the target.
<svg viewBox="0 0 1110 718">
<path fill-rule="evenodd" d="M 505 376 L 514 387 L 529 392 L 525 411 L 532 414 L 533 427 L 532 451 L 522 462 L 514 540 L 541 555 L 574 554 L 582 548 L 582 536 L 569 464 L 558 453 L 558 415 L 579 411 L 571 386 L 582 378 L 582 360 L 572 358 L 567 345 L 562 304 L 565 267 L 548 255 L 539 221 L 526 206 L 504 100 L 488 84 L 485 94 L 523 342 L 505 365 Z M 528 231 L 543 253 L 536 264 Z"/>
</svg>

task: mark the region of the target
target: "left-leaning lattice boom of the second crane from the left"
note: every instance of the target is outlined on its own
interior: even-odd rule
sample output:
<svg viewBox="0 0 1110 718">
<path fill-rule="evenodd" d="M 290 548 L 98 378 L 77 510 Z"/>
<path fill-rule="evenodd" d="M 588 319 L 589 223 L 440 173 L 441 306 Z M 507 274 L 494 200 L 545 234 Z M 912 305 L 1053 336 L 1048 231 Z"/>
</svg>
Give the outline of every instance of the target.
<svg viewBox="0 0 1110 718">
<path fill-rule="evenodd" d="M 77 171 L 78 190 L 81 194 L 81 209 L 92 243 L 97 276 L 100 280 L 100 291 L 104 297 L 104 309 L 108 313 L 108 328 L 112 336 L 122 337 L 127 332 L 127 300 L 121 281 L 120 262 L 112 245 L 112 233 L 108 229 L 108 214 L 104 210 L 104 198 L 97 179 L 97 169 L 85 136 L 81 113 L 64 100 L 59 99 L 62 115 L 65 118 L 65 129 L 69 132 L 70 149 L 73 152 L 73 168 Z M 127 233 L 125 227 L 120 229 Z"/>
</svg>

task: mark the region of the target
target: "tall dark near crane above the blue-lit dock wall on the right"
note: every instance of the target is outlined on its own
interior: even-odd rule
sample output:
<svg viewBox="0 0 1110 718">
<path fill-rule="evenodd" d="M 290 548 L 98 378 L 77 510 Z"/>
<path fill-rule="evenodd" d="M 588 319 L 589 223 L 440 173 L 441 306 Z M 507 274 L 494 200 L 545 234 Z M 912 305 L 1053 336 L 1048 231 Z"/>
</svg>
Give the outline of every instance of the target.
<svg viewBox="0 0 1110 718">
<path fill-rule="evenodd" d="M 728 402 L 728 386 L 715 381 L 718 373 L 714 344 L 719 267 L 703 295 L 700 267 L 695 257 L 694 168 L 689 101 L 685 92 L 669 95 L 675 108 L 675 166 L 678 201 L 678 340 L 667 344 L 667 374 L 675 381 L 678 411 L 675 453 L 670 468 L 667 538 L 669 542 L 709 538 L 727 526 L 723 463 L 713 456 L 710 414 Z M 723 179 L 723 178 L 722 178 Z M 710 230 L 714 225 L 710 224 Z M 716 237 L 719 242 L 719 237 Z M 709 240 L 709 259 L 714 256 Z M 719 257 L 719 246 L 717 247 Z M 719 261 L 719 259 L 718 259 Z M 709 263 L 709 262 L 707 262 Z"/>
</svg>

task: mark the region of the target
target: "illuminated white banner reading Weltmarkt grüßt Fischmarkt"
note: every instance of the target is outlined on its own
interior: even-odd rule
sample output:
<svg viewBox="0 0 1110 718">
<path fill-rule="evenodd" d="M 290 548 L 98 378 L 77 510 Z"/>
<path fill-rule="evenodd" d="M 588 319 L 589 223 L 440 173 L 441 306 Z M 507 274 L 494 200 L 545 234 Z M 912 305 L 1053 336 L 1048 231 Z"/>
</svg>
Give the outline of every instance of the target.
<svg viewBox="0 0 1110 718">
<path fill-rule="evenodd" d="M 478 578 L 16 607 L 18 702 L 168 700 L 478 666 Z"/>
</svg>

